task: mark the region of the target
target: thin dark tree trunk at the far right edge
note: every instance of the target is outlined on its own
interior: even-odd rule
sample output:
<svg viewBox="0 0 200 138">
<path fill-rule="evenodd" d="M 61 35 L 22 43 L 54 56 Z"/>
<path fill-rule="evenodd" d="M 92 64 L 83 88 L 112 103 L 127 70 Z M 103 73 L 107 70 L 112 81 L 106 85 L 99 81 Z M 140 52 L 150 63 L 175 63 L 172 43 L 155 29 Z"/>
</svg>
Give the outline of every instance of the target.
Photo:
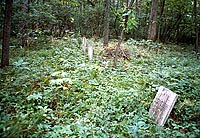
<svg viewBox="0 0 200 138">
<path fill-rule="evenodd" d="M 194 50 L 196 53 L 198 53 L 198 45 L 199 45 L 199 27 L 197 22 L 197 0 L 194 0 L 194 22 L 195 22 L 195 32 L 196 32 L 196 41 Z"/>
</svg>

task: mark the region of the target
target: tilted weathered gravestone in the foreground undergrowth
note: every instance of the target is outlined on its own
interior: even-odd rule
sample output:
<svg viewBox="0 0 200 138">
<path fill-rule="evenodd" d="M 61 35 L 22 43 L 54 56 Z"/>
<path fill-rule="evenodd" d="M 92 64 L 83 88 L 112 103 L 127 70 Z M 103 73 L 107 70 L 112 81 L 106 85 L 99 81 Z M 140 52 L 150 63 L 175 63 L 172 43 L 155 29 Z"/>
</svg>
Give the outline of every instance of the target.
<svg viewBox="0 0 200 138">
<path fill-rule="evenodd" d="M 164 126 L 177 98 L 178 95 L 169 89 L 163 86 L 159 88 L 149 109 L 149 113 L 153 115 L 157 125 Z"/>
</svg>

